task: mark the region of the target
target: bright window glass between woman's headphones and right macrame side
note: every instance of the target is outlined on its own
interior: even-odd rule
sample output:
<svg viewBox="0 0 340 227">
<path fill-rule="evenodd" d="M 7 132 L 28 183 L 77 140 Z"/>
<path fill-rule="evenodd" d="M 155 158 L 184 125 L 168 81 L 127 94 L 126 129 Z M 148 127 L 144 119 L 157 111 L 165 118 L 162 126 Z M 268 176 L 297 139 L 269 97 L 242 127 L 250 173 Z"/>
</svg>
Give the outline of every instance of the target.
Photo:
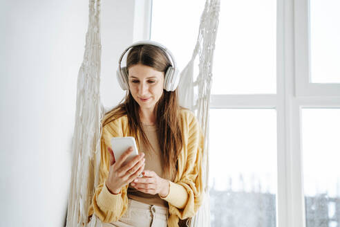
<svg viewBox="0 0 340 227">
<path fill-rule="evenodd" d="M 191 60 L 204 8 L 205 0 L 152 1 L 151 39 L 169 48 L 180 71 Z"/>
</svg>

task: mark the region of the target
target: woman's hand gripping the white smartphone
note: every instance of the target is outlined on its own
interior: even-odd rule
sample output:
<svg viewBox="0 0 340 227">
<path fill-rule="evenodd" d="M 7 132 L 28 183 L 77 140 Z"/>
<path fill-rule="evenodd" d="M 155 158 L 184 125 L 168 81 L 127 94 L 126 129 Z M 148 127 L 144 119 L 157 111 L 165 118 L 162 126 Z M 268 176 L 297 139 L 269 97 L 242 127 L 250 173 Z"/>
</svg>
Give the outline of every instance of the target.
<svg viewBox="0 0 340 227">
<path fill-rule="evenodd" d="M 129 147 L 129 149 L 126 149 L 117 161 L 115 161 L 112 149 L 110 147 L 107 149 L 110 153 L 110 167 L 108 178 L 106 179 L 106 187 L 111 193 L 118 194 L 124 185 L 131 183 L 144 170 L 144 153 L 138 154 L 131 161 L 123 165 L 126 158 L 132 153 L 133 148 Z"/>
</svg>

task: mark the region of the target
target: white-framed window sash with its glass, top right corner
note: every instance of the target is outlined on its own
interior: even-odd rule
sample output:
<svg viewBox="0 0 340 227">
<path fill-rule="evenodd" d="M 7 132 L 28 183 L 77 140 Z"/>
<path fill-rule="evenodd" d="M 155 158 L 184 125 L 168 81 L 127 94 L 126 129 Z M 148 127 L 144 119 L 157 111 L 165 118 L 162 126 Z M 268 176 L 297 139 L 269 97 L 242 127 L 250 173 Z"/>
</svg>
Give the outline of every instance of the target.
<svg viewBox="0 0 340 227">
<path fill-rule="evenodd" d="M 297 96 L 340 96 L 340 3 L 294 1 Z"/>
</svg>

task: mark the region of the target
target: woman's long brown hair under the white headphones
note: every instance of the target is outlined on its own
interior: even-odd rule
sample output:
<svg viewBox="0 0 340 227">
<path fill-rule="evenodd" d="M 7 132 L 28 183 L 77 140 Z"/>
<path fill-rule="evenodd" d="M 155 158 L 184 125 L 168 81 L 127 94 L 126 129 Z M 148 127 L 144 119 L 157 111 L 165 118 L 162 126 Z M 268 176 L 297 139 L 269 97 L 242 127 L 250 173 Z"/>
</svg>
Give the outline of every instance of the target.
<svg viewBox="0 0 340 227">
<path fill-rule="evenodd" d="M 169 66 L 171 66 L 166 53 L 164 53 L 161 48 L 148 44 L 134 46 L 129 51 L 126 58 L 126 68 L 128 71 L 129 67 L 135 64 L 151 66 L 157 71 L 164 72 L 164 74 Z M 126 115 L 129 122 L 130 133 L 138 140 L 137 143 L 139 144 L 141 142 L 144 143 L 144 145 L 149 145 L 149 147 L 151 147 L 142 128 L 139 109 L 140 106 L 138 105 L 138 102 L 136 102 L 131 93 L 127 91 L 125 100 L 106 114 L 106 118 L 102 125 L 104 127 L 104 125 L 112 120 Z M 180 128 L 180 119 L 178 117 L 179 109 L 180 106 L 178 105 L 176 90 L 163 90 L 160 100 L 158 100 L 155 105 L 155 114 L 156 127 L 158 128 L 158 140 L 165 170 L 164 174 L 168 177 L 176 174 L 178 168 L 178 155 L 182 149 L 182 131 Z M 139 138 L 141 141 L 139 141 Z"/>
</svg>

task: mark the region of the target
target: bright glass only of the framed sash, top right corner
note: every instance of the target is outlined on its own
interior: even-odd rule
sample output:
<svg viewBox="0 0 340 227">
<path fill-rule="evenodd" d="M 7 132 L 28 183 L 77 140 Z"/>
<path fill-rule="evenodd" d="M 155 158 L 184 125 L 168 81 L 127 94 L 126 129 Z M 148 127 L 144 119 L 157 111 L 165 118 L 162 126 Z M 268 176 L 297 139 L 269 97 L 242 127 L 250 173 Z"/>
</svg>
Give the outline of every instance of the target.
<svg viewBox="0 0 340 227">
<path fill-rule="evenodd" d="M 310 0 L 312 83 L 340 83 L 339 12 L 339 0 Z"/>
</svg>

